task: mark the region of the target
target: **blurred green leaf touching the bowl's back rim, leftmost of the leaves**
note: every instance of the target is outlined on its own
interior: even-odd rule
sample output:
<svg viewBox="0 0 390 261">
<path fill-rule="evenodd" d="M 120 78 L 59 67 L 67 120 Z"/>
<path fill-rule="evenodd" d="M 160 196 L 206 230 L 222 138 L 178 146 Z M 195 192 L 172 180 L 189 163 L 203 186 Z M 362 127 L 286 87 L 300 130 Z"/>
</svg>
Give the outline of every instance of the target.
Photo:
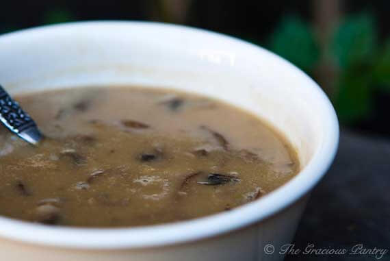
<svg viewBox="0 0 390 261">
<path fill-rule="evenodd" d="M 311 28 L 297 16 L 287 16 L 270 38 L 270 49 L 304 71 L 311 71 L 320 57 Z"/>
</svg>

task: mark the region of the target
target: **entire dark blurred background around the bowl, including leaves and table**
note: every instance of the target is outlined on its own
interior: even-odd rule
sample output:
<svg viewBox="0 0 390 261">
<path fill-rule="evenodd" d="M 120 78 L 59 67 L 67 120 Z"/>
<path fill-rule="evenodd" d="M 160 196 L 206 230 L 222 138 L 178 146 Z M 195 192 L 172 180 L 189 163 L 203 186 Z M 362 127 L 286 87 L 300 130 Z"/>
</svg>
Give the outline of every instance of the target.
<svg viewBox="0 0 390 261">
<path fill-rule="evenodd" d="M 164 21 L 236 36 L 282 55 L 322 86 L 341 123 L 335 164 L 313 190 L 296 248 L 390 249 L 390 1 L 37 0 L 3 1 L 1 11 L 0 33 L 68 21 Z M 390 260 L 389 253 L 382 260 Z"/>
</svg>

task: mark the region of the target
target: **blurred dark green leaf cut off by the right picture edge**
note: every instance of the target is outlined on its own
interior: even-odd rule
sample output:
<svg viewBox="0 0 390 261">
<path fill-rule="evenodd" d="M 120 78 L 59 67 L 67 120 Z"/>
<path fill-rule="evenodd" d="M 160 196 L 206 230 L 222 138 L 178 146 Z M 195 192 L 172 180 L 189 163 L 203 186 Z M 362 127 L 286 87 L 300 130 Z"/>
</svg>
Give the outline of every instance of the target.
<svg viewBox="0 0 390 261">
<path fill-rule="evenodd" d="M 374 79 L 382 90 L 390 91 L 390 39 L 379 52 L 374 66 Z"/>
</svg>

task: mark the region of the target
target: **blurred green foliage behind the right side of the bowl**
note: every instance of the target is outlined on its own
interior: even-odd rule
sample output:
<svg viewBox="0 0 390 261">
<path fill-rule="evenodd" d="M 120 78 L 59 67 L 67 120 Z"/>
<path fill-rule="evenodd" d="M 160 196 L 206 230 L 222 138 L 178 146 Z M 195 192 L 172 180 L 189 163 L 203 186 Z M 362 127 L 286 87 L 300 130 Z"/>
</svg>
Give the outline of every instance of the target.
<svg viewBox="0 0 390 261">
<path fill-rule="evenodd" d="M 276 27 L 269 47 L 313 77 L 321 51 L 326 52 L 336 61 L 335 90 L 328 95 L 339 120 L 347 125 L 364 121 L 372 112 L 374 93 L 390 92 L 390 39 L 378 45 L 372 14 L 343 19 L 321 51 L 314 32 L 309 23 L 289 16 Z"/>
</svg>

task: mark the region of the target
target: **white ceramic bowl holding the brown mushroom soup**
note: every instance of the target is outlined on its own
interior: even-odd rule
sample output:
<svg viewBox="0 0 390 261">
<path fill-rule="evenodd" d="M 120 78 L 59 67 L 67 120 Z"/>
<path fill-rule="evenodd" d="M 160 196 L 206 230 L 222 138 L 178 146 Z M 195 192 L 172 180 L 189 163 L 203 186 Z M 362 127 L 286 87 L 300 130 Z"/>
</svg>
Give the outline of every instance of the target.
<svg viewBox="0 0 390 261">
<path fill-rule="evenodd" d="M 302 164 L 265 197 L 192 221 L 84 229 L 0 217 L 2 260 L 281 260 L 278 248 L 291 242 L 337 150 L 337 117 L 321 88 L 277 55 L 221 34 L 161 23 L 68 23 L 1 36 L 0 61 L 0 82 L 11 93 L 137 84 L 217 97 L 269 121 Z M 268 244 L 273 254 L 265 253 Z"/>
</svg>

